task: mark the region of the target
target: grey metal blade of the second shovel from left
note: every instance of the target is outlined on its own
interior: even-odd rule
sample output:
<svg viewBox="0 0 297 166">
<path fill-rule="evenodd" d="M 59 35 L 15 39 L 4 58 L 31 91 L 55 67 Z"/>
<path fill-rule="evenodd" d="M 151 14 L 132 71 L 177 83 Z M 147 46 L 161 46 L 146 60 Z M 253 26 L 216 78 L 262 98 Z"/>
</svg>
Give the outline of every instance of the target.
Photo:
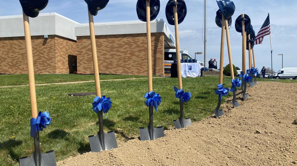
<svg viewBox="0 0 297 166">
<path fill-rule="evenodd" d="M 118 148 L 114 131 L 109 131 L 107 133 L 100 133 L 100 131 L 98 131 L 97 135 L 89 136 L 89 142 L 92 152 L 100 152 L 100 150 L 107 151 L 113 148 Z"/>
</svg>

